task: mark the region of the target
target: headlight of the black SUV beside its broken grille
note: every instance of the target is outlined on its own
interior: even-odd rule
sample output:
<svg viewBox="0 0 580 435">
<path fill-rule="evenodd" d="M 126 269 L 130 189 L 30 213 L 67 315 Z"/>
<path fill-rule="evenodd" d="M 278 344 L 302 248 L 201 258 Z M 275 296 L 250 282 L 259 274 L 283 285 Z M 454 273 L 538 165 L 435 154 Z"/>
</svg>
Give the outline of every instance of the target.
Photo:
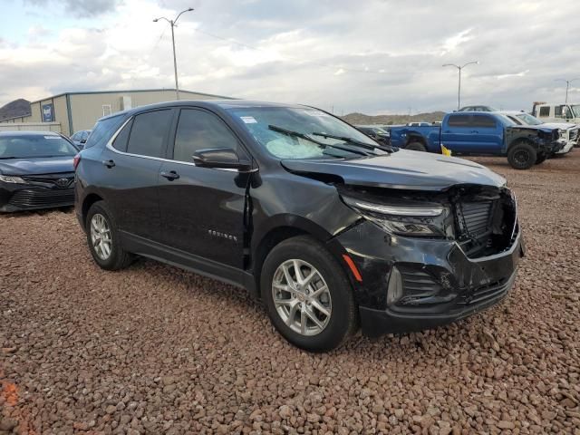
<svg viewBox="0 0 580 435">
<path fill-rule="evenodd" d="M 375 204 L 358 198 L 342 197 L 375 225 L 390 234 L 406 237 L 453 238 L 453 218 L 442 205 Z"/>
</svg>

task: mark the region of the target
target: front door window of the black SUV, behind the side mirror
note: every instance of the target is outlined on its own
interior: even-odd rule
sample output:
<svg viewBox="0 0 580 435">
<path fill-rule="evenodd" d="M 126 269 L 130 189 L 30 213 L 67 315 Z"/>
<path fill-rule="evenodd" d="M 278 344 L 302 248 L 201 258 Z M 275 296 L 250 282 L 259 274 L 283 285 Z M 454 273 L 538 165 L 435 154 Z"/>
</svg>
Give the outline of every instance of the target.
<svg viewBox="0 0 580 435">
<path fill-rule="evenodd" d="M 237 139 L 216 115 L 195 109 L 182 110 L 175 134 L 173 160 L 191 162 L 195 151 L 208 148 L 237 150 Z"/>
</svg>

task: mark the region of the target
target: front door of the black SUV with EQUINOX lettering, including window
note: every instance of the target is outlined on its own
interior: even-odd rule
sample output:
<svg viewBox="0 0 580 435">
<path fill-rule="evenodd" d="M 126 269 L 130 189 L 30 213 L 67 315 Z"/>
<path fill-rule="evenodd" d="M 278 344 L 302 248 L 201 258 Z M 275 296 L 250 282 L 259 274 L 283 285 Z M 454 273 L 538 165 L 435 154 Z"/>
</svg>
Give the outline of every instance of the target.
<svg viewBox="0 0 580 435">
<path fill-rule="evenodd" d="M 160 168 L 163 243 L 195 256 L 209 272 L 219 264 L 241 269 L 249 177 L 232 169 L 196 167 L 192 156 L 197 150 L 228 148 L 249 159 L 247 151 L 225 121 L 198 108 L 180 110 L 170 141 L 168 161 Z"/>
</svg>

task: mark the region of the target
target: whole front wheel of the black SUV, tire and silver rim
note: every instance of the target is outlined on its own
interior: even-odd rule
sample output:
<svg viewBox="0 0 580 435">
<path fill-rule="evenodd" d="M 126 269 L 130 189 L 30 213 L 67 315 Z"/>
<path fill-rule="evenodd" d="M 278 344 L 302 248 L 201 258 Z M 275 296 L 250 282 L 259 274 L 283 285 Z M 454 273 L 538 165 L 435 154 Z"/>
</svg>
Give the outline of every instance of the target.
<svg viewBox="0 0 580 435">
<path fill-rule="evenodd" d="M 298 285 L 296 270 L 300 270 L 303 281 L 312 275 L 310 282 Z M 289 291 L 288 278 L 294 291 Z M 335 349 L 358 326 L 348 277 L 313 237 L 292 237 L 274 247 L 262 267 L 260 288 L 275 329 L 288 342 L 306 351 Z"/>
</svg>

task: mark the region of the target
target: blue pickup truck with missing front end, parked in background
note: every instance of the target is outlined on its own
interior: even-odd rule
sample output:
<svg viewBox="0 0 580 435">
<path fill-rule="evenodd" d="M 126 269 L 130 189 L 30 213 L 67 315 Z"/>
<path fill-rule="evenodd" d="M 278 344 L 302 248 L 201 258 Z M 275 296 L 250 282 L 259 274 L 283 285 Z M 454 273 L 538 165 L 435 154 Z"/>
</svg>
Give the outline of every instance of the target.
<svg viewBox="0 0 580 435">
<path fill-rule="evenodd" d="M 517 125 L 497 112 L 448 113 L 441 125 L 390 127 L 391 145 L 453 155 L 502 156 L 514 169 L 529 169 L 560 150 L 557 129 Z"/>
</svg>

